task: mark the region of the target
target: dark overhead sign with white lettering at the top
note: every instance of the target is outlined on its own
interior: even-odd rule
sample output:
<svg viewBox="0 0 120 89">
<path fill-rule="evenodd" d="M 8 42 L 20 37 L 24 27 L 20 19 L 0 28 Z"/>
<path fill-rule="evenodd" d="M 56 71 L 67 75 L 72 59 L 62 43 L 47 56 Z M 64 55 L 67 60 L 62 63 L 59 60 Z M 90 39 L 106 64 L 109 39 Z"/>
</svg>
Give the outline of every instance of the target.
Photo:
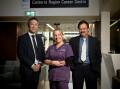
<svg viewBox="0 0 120 89">
<path fill-rule="evenodd" d="M 88 7 L 89 0 L 30 0 L 30 8 Z"/>
</svg>

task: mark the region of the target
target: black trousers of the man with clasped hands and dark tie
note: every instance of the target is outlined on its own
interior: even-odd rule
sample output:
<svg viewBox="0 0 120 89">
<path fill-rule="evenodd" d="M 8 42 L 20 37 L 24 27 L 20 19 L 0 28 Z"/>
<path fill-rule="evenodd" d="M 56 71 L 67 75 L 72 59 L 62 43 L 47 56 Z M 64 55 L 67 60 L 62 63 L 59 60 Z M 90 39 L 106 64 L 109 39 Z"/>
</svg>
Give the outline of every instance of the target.
<svg viewBox="0 0 120 89">
<path fill-rule="evenodd" d="M 30 69 L 21 73 L 21 89 L 37 89 L 40 72 L 34 72 Z"/>
</svg>

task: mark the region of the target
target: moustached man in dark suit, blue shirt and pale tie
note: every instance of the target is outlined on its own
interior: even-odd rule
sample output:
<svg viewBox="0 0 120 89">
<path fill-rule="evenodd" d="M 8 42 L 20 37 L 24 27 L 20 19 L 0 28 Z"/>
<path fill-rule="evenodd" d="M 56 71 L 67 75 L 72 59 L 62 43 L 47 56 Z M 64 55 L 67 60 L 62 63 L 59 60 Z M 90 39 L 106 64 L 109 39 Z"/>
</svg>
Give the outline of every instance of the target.
<svg viewBox="0 0 120 89">
<path fill-rule="evenodd" d="M 72 70 L 73 89 L 97 89 L 97 74 L 100 72 L 101 51 L 99 41 L 89 35 L 89 24 L 81 21 L 78 24 L 80 35 L 70 39 L 74 59 Z"/>
</svg>

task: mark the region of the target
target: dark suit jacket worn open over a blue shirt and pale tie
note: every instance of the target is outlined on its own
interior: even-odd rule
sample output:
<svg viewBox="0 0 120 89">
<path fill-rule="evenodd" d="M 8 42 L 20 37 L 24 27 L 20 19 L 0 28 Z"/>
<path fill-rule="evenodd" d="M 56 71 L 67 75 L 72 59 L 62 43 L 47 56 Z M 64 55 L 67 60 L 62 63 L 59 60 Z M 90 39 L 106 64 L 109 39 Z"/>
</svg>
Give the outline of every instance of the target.
<svg viewBox="0 0 120 89">
<path fill-rule="evenodd" d="M 75 65 L 78 64 L 79 42 L 80 42 L 80 36 L 73 37 L 69 41 L 74 53 L 73 69 L 75 69 Z M 88 54 L 89 54 L 91 69 L 95 72 L 98 72 L 101 63 L 101 51 L 100 51 L 100 43 L 96 38 L 91 36 L 88 37 L 88 50 L 89 50 Z"/>
</svg>

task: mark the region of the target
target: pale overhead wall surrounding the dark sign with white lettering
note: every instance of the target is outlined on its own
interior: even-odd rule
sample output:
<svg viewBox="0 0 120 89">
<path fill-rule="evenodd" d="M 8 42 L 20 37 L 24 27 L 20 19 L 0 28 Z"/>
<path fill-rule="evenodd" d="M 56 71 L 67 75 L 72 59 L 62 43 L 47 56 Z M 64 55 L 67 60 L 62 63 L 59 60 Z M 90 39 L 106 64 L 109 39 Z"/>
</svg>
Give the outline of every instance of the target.
<svg viewBox="0 0 120 89">
<path fill-rule="evenodd" d="M 89 0 L 89 8 L 29 8 L 22 0 L 0 1 L 0 16 L 24 16 L 27 10 L 37 16 L 99 16 L 99 0 Z"/>
</svg>

